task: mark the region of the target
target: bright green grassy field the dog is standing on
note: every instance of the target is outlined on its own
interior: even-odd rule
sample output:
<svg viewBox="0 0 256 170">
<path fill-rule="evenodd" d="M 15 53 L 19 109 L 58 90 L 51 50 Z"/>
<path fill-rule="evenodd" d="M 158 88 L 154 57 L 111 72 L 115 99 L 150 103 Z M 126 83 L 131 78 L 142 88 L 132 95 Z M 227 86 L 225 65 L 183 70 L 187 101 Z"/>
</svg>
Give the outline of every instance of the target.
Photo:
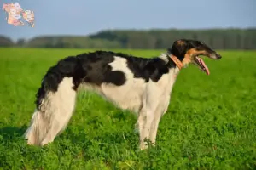
<svg viewBox="0 0 256 170">
<path fill-rule="evenodd" d="M 163 51 L 114 50 L 138 56 Z M 139 151 L 136 117 L 80 93 L 67 127 L 45 147 L 22 138 L 49 66 L 82 49 L 0 48 L 0 169 L 256 169 L 256 52 L 220 52 L 177 77 L 157 146 Z"/>
</svg>

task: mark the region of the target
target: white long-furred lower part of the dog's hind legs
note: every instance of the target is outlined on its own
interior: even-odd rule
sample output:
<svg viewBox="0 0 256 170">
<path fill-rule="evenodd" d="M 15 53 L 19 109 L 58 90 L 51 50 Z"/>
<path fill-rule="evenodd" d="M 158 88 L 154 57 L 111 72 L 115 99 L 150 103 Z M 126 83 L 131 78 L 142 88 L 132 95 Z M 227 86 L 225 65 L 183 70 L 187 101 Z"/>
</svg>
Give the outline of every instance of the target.
<svg viewBox="0 0 256 170">
<path fill-rule="evenodd" d="M 26 131 L 27 144 L 44 145 L 52 142 L 69 122 L 75 106 L 73 78 L 64 77 L 56 92 L 46 92 L 40 109 Z"/>
</svg>

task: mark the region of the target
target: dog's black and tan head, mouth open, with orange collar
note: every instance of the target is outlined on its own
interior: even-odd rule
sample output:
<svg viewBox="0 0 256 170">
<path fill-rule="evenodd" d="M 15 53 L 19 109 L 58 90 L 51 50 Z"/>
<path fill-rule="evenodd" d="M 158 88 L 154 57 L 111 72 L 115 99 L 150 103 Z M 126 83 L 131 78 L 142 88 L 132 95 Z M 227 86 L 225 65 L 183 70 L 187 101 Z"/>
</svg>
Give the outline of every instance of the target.
<svg viewBox="0 0 256 170">
<path fill-rule="evenodd" d="M 210 71 L 205 62 L 199 57 L 201 55 L 207 56 L 210 59 L 221 59 L 221 55 L 209 48 L 206 44 L 196 40 L 180 39 L 173 43 L 172 48 L 168 52 L 176 56 L 183 65 L 193 63 L 197 65 L 201 71 L 205 71 L 207 75 Z"/>
</svg>

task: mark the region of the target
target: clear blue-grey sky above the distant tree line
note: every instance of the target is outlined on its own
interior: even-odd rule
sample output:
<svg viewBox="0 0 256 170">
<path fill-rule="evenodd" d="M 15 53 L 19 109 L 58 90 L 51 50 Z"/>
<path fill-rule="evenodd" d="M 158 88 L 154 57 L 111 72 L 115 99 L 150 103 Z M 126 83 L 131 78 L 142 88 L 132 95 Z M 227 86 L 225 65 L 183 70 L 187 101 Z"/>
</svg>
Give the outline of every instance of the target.
<svg viewBox="0 0 256 170">
<path fill-rule="evenodd" d="M 35 26 L 6 23 L 3 3 L 33 10 Z M 256 0 L 0 0 L 0 35 L 85 36 L 109 29 L 256 27 Z"/>
</svg>

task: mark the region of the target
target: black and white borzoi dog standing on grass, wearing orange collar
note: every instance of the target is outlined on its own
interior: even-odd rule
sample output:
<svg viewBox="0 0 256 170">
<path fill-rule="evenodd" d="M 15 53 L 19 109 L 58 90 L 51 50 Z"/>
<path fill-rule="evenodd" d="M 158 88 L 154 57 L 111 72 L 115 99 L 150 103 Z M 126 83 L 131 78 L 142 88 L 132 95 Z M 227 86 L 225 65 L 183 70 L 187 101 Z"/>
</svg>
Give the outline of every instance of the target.
<svg viewBox="0 0 256 170">
<path fill-rule="evenodd" d="M 148 148 L 145 139 L 155 145 L 179 71 L 192 63 L 210 74 L 201 55 L 222 58 L 203 42 L 178 39 L 166 53 L 149 59 L 102 50 L 61 59 L 49 68 L 38 88 L 36 109 L 24 134 L 27 144 L 43 146 L 54 141 L 67 127 L 81 89 L 137 113 L 139 148 Z"/>
</svg>

